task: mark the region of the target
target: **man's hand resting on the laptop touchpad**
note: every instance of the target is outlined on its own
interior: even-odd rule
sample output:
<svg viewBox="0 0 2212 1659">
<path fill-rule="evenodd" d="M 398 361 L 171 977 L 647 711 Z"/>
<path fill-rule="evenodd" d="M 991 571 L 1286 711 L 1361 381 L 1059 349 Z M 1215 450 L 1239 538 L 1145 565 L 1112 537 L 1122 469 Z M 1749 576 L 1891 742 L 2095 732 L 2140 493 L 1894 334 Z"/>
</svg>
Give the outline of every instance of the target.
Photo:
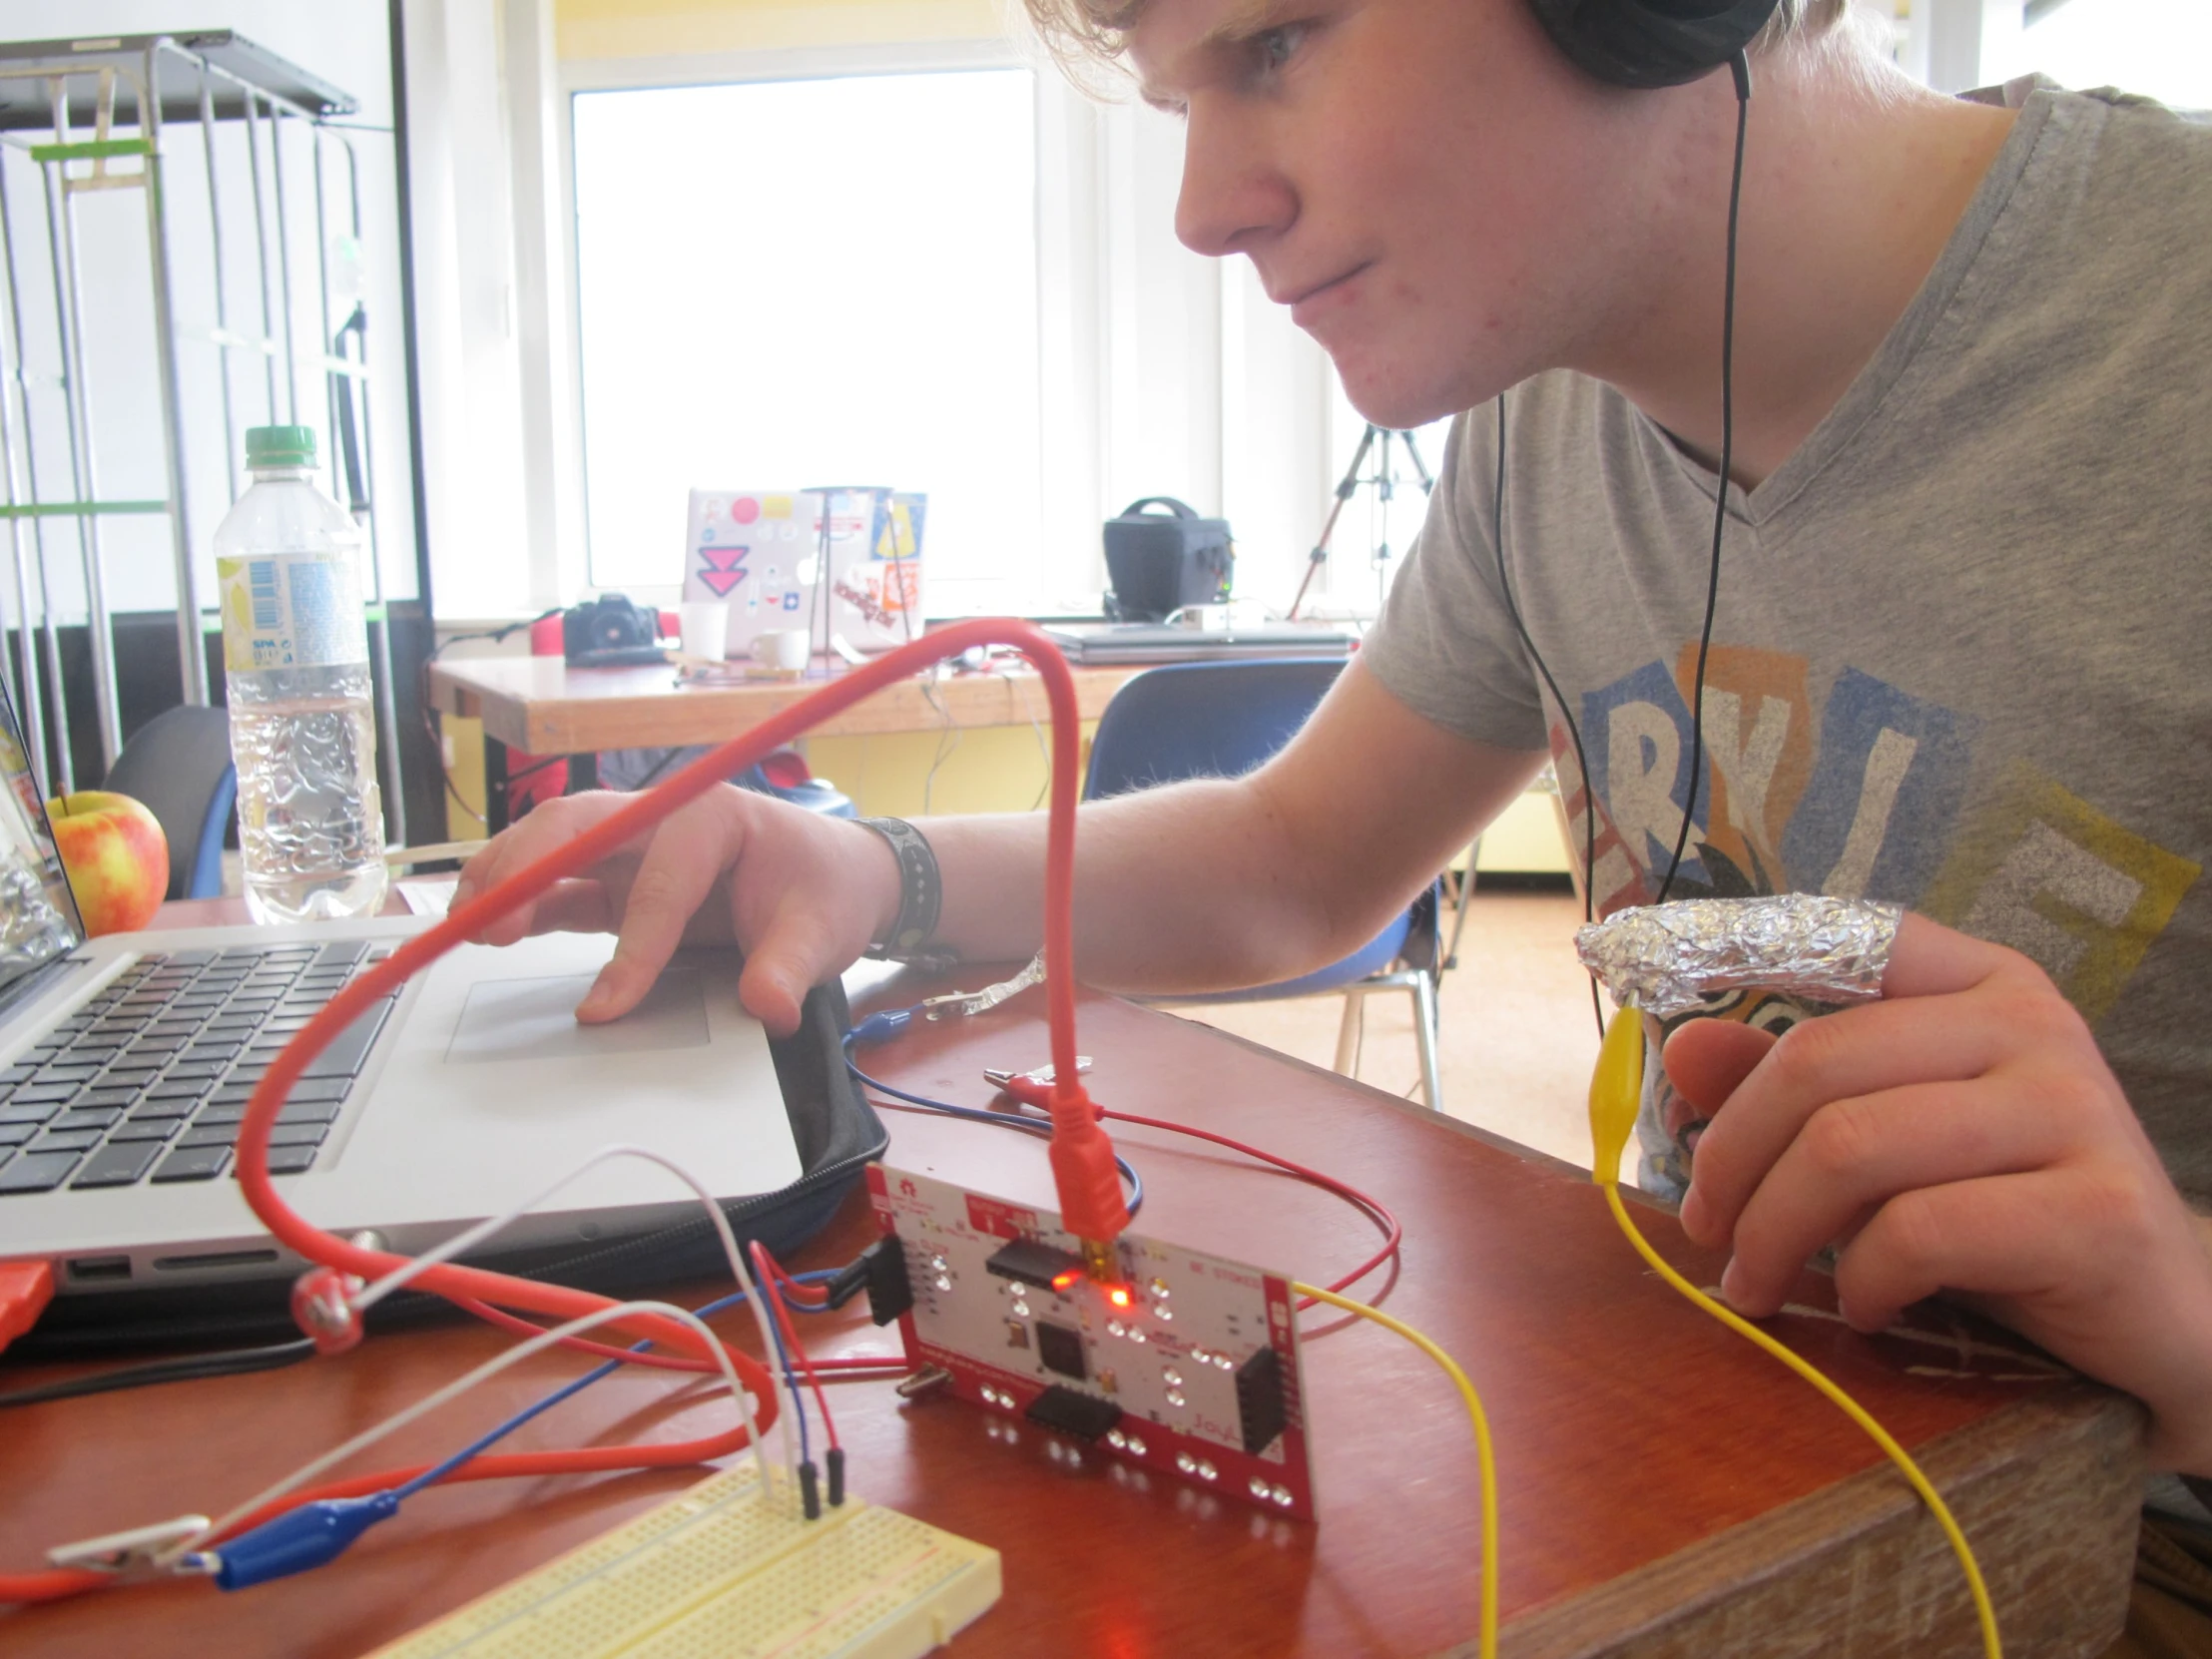
<svg viewBox="0 0 2212 1659">
<path fill-rule="evenodd" d="M 546 801 L 467 863 L 453 907 L 633 801 L 606 792 Z M 615 956 L 575 1011 L 593 1024 L 635 1009 L 679 945 L 734 940 L 745 951 L 739 1000 L 787 1035 L 807 989 L 858 958 L 896 914 L 898 863 L 883 836 L 726 783 L 591 876 L 555 883 L 500 918 L 484 945 L 615 931 Z"/>
</svg>

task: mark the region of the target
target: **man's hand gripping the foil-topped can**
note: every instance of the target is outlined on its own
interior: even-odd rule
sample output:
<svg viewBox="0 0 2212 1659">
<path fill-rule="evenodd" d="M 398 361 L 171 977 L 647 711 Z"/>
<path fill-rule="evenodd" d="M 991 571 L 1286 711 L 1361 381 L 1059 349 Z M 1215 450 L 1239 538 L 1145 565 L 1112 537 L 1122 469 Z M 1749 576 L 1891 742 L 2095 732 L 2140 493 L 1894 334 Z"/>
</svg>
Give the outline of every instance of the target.
<svg viewBox="0 0 2212 1659">
<path fill-rule="evenodd" d="M 2154 1464 L 2212 1473 L 2212 1252 L 2024 956 L 1907 916 L 1882 1002 L 1781 1040 L 1692 1020 L 1666 1068 L 1712 1115 L 1681 1223 L 1734 1250 L 1741 1312 L 1774 1314 L 1836 1243 L 1854 1327 L 1953 1292 L 2141 1398 Z"/>
</svg>

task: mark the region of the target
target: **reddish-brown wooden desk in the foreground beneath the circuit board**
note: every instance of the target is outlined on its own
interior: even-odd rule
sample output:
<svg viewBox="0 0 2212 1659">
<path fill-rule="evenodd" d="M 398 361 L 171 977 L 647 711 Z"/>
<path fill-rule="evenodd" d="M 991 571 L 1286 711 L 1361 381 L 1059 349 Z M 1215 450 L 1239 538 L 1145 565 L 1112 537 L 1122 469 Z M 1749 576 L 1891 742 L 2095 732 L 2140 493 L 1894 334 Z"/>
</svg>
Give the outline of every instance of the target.
<svg viewBox="0 0 2212 1659">
<path fill-rule="evenodd" d="M 1035 1000 L 958 1029 L 916 1026 L 876 1051 L 876 1066 L 980 1106 L 984 1064 L 1044 1057 Z M 1498 1433 L 1509 1655 L 1978 1652 L 1958 1566 L 1880 1453 L 1655 1283 L 1586 1179 L 1121 1002 L 1084 1002 L 1082 1046 L 1097 1057 L 1099 1099 L 1327 1164 L 1405 1219 L 1400 1272 L 1363 1290 L 1387 1292 L 1385 1305 L 1455 1354 L 1484 1391 Z M 1040 1141 L 907 1113 L 889 1121 L 894 1164 L 1051 1201 Z M 1148 1179 L 1139 1225 L 1150 1234 L 1323 1281 L 1371 1250 L 1371 1225 L 1316 1188 L 1152 1130 L 1117 1139 Z M 1697 1283 L 1717 1279 L 1721 1263 L 1666 1217 L 1641 1221 Z M 801 1263 L 843 1261 L 867 1237 L 867 1214 L 852 1203 Z M 703 1301 L 719 1287 L 686 1294 Z M 1832 1307 L 1812 1274 L 1798 1298 Z M 752 1343 L 743 1316 L 721 1327 Z M 1146 1489 L 1097 1458 L 1071 1467 L 1026 1425 L 1009 1442 L 971 1407 L 900 1405 L 883 1383 L 841 1387 L 834 1400 L 852 1486 L 1004 1553 L 1006 1595 L 953 1644 L 956 1659 L 1471 1655 L 1480 1535 L 1464 1411 L 1405 1343 L 1365 1325 L 1314 1327 L 1305 1380 L 1318 1526 L 1164 1482 Z M 1973 1356 L 1962 1334 L 1865 1340 L 1816 1314 L 1785 1314 L 1774 1329 L 1856 1391 L 1949 1495 L 2013 1659 L 2101 1652 L 2135 1553 L 2130 1402 L 2070 1380 L 2006 1380 L 2033 1367 Z M 896 1352 L 858 1305 L 807 1332 L 830 1354 Z M 221 1509 L 504 1340 L 460 1323 L 288 1371 L 11 1411 L 0 1433 L 0 1562 L 29 1568 L 58 1540 Z M 449 1451 L 575 1367 L 538 1356 L 396 1436 L 376 1464 Z M 515 1444 L 701 1433 L 726 1409 L 699 1387 L 622 1374 Z M 655 1473 L 425 1493 L 319 1573 L 237 1597 L 175 1584 L 0 1615 L 0 1648 L 13 1659 L 341 1659 L 684 1484 L 684 1473 Z"/>
</svg>

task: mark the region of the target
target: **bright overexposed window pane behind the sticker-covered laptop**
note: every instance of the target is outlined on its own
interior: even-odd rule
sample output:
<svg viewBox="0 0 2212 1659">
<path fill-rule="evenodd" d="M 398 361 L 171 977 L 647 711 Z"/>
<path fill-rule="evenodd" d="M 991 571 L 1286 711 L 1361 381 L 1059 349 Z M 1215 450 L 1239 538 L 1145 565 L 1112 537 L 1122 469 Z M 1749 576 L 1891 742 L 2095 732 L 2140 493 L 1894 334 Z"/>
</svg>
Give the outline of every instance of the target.
<svg viewBox="0 0 2212 1659">
<path fill-rule="evenodd" d="M 1029 69 L 575 95 L 595 586 L 679 580 L 690 489 L 927 491 L 933 588 L 1035 560 L 1035 102 Z"/>
</svg>

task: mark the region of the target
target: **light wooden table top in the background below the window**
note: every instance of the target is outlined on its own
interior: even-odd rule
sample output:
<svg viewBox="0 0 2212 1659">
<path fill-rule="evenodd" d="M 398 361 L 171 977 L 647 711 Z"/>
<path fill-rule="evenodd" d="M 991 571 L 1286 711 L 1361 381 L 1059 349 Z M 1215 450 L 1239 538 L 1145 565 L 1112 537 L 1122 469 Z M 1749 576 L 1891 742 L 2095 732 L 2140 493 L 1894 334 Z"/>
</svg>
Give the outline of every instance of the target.
<svg viewBox="0 0 2212 1659">
<path fill-rule="evenodd" d="M 1141 668 L 1075 668 L 1082 719 Z M 484 732 L 529 754 L 719 743 L 781 714 L 827 679 L 679 681 L 675 668 L 571 668 L 560 657 L 462 657 L 429 666 L 431 708 L 484 721 Z M 993 668 L 885 686 L 814 728 L 818 737 L 936 732 L 942 726 L 1029 726 L 1046 717 L 1033 670 Z"/>
</svg>

